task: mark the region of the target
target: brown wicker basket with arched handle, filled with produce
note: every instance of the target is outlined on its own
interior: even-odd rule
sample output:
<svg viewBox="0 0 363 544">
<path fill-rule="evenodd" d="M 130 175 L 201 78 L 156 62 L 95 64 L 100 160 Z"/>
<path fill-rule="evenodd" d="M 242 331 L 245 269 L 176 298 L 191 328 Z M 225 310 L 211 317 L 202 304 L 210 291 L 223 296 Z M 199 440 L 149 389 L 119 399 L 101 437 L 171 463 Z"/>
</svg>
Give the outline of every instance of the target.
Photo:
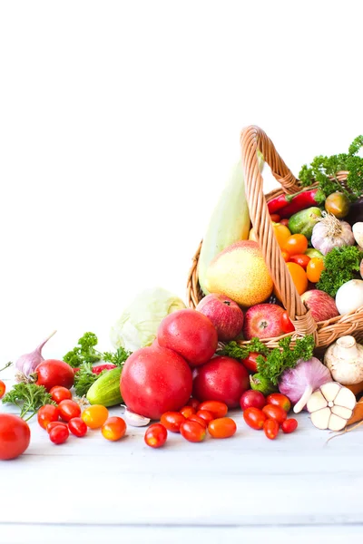
<svg viewBox="0 0 363 544">
<path fill-rule="evenodd" d="M 317 323 L 311 316 L 310 310 L 301 302 L 298 291 L 289 275 L 289 269 L 282 257 L 270 221 L 267 202 L 282 193 L 292 194 L 297 192 L 301 189 L 299 180 L 294 177 L 275 150 L 270 138 L 259 127 L 250 126 L 244 129 L 240 135 L 240 146 L 250 219 L 259 240 L 263 257 L 270 269 L 270 275 L 280 292 L 282 304 L 288 310 L 289 317 L 295 325 L 295 332 L 291 334 L 292 340 L 301 335 L 312 334 L 315 336 L 316 346 L 320 349 L 327 347 L 339 336 L 343 335 L 353 335 L 358 342 L 361 342 L 363 340 L 363 306 L 355 312 Z M 258 150 L 270 165 L 275 179 L 281 185 L 281 189 L 275 189 L 266 196 L 263 194 Z M 348 172 L 338 173 L 338 181 L 342 185 L 347 179 L 347 174 Z M 187 302 L 191 308 L 195 308 L 203 296 L 198 282 L 198 258 L 200 252 L 201 244 L 193 257 L 188 277 Z M 263 342 L 269 347 L 276 347 L 280 338 L 285 336 L 289 335 L 266 338 Z M 240 344 L 248 344 L 248 342 L 240 342 Z"/>
</svg>

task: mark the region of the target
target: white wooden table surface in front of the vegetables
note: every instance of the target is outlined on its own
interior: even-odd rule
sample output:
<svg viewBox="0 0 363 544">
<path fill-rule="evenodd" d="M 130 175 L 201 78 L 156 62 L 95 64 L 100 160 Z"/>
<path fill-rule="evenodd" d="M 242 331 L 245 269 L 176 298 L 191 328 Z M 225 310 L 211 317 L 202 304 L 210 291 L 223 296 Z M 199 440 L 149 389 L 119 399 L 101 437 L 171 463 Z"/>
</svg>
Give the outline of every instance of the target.
<svg viewBox="0 0 363 544">
<path fill-rule="evenodd" d="M 301 414 L 297 432 L 271 442 L 232 416 L 231 439 L 169 433 L 160 450 L 132 427 L 120 442 L 91 431 L 56 446 L 35 417 L 27 452 L 0 462 L 0 542 L 340 544 L 363 534 L 363 429 L 326 444 L 329 432 Z"/>
</svg>

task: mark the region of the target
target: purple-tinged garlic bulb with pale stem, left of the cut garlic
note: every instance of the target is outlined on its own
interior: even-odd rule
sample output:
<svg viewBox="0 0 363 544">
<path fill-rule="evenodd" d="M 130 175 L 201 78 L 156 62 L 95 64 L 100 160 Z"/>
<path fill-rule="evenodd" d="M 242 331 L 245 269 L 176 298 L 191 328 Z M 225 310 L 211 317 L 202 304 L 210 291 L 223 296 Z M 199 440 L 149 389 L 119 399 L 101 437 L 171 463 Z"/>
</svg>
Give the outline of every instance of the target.
<svg viewBox="0 0 363 544">
<path fill-rule="evenodd" d="M 285 370 L 280 378 L 279 389 L 295 404 L 294 412 L 299 413 L 306 406 L 311 393 L 331 381 L 329 369 L 319 359 L 311 357 L 309 361 L 300 359 L 295 368 Z"/>
</svg>

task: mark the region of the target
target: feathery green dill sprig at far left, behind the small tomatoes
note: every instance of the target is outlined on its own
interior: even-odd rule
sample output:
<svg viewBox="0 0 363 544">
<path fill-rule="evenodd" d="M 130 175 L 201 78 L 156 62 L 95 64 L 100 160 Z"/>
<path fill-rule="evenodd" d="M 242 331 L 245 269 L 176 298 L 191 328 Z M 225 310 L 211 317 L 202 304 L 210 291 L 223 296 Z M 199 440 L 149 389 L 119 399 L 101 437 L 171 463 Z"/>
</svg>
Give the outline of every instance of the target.
<svg viewBox="0 0 363 544">
<path fill-rule="evenodd" d="M 22 418 L 25 413 L 31 413 L 25 422 L 30 420 L 44 404 L 55 404 L 43 385 L 24 383 L 15 384 L 5 394 L 3 403 L 15 404 L 20 409 L 20 417 Z"/>
</svg>

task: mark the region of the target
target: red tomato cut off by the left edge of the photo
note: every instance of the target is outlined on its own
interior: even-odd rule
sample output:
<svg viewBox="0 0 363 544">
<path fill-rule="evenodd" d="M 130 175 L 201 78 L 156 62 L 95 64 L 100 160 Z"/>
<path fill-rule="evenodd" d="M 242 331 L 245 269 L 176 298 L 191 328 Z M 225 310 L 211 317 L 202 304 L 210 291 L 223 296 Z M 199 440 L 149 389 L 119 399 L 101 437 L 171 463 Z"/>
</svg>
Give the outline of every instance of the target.
<svg viewBox="0 0 363 544">
<path fill-rule="evenodd" d="M 18 415 L 0 413 L 0 460 L 15 459 L 30 442 L 29 425 Z"/>
</svg>

